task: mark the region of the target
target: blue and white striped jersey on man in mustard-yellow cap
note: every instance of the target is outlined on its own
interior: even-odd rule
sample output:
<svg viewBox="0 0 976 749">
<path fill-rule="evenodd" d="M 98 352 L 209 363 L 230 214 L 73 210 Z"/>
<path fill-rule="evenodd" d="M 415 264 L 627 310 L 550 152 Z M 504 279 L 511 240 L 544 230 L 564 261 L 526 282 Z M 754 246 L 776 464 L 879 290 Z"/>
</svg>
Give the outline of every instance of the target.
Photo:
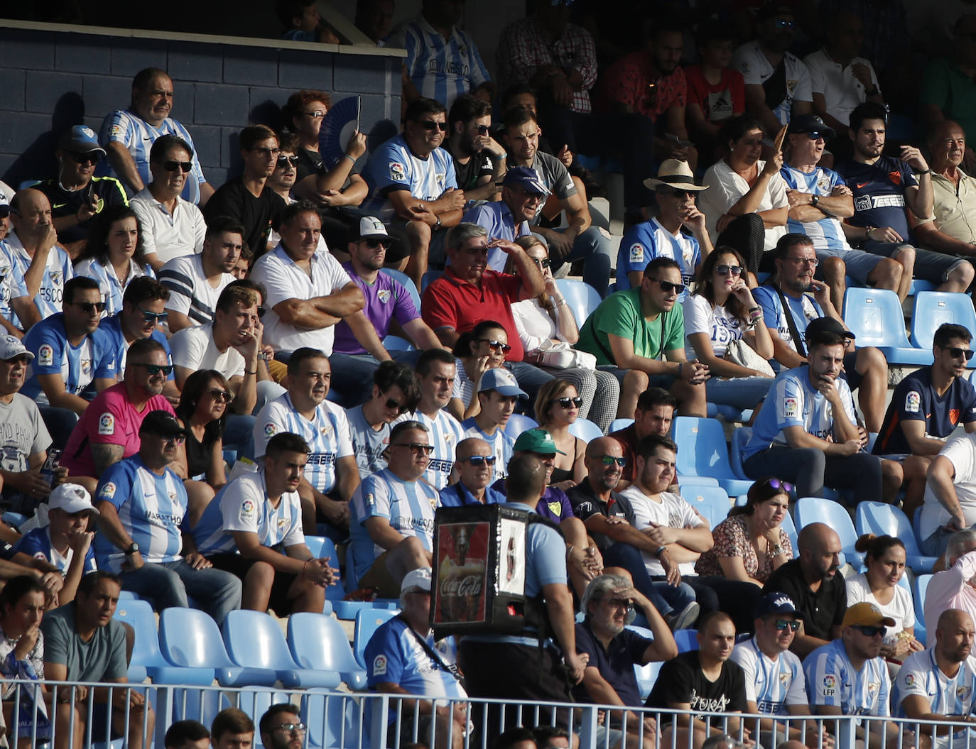
<svg viewBox="0 0 976 749">
<path fill-rule="evenodd" d="M 870 658 L 855 671 L 843 640 L 834 640 L 806 656 L 803 673 L 811 705 L 839 707 L 843 715 L 891 715 L 891 680 L 884 658 Z"/>
</svg>

